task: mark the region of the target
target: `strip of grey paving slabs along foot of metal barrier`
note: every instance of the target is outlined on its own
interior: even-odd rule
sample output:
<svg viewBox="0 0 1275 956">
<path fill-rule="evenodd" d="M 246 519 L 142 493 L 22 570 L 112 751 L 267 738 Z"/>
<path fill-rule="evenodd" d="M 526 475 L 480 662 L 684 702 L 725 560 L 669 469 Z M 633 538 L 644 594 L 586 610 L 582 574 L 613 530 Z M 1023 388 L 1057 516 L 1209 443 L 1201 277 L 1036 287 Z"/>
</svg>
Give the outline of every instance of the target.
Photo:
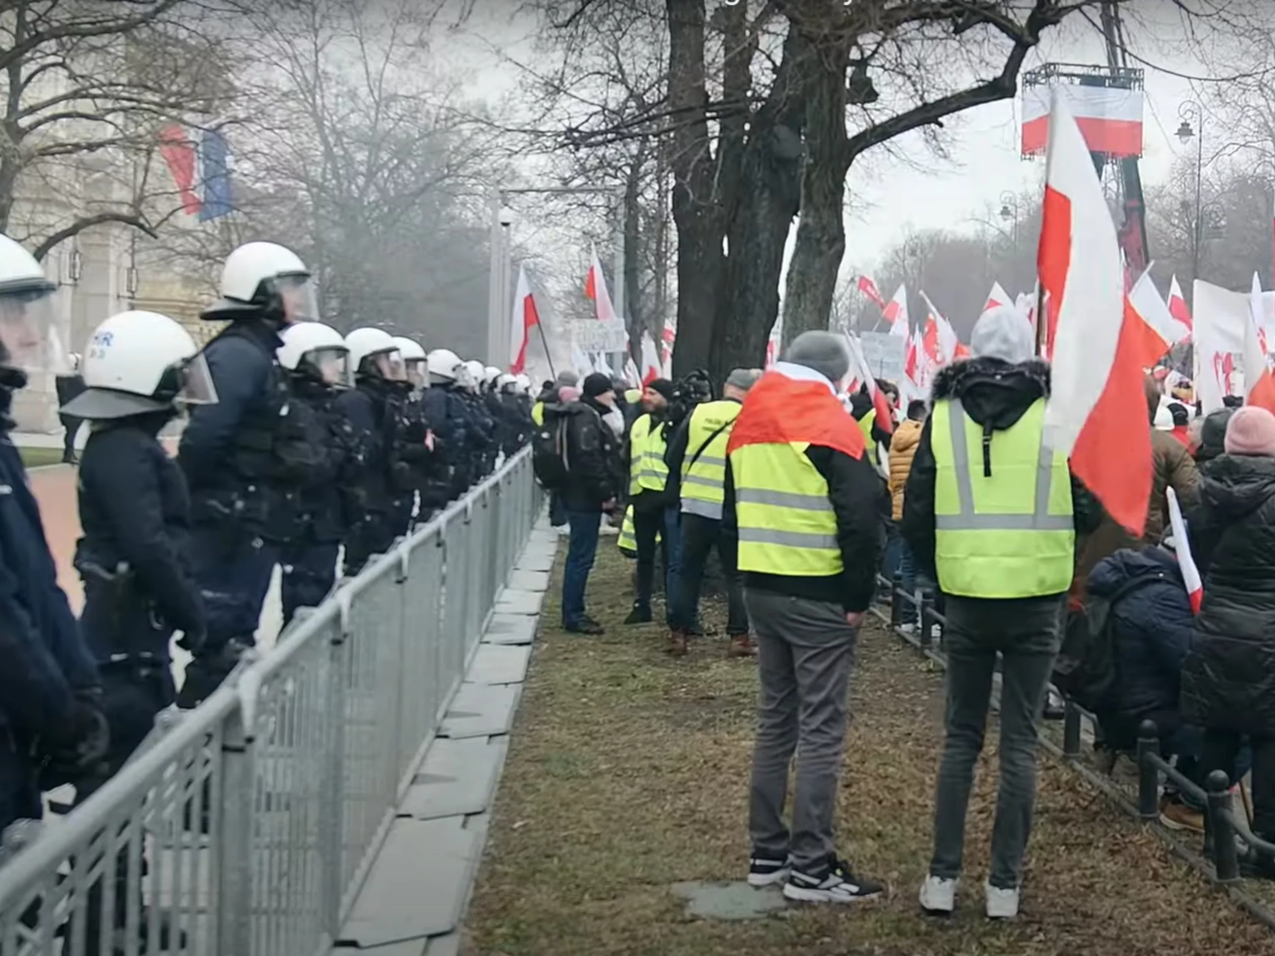
<svg viewBox="0 0 1275 956">
<path fill-rule="evenodd" d="M 543 519 L 528 538 L 333 956 L 458 952 L 557 540 Z"/>
</svg>

